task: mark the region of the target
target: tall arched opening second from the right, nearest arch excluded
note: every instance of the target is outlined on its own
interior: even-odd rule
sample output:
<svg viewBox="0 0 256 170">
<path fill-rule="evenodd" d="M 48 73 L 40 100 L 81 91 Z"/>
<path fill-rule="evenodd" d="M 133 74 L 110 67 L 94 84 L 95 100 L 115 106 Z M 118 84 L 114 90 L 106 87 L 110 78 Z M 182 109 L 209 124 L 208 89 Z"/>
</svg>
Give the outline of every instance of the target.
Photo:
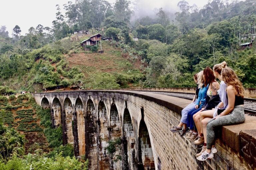
<svg viewBox="0 0 256 170">
<path fill-rule="evenodd" d="M 134 130 L 129 110 L 124 110 L 122 169 L 137 169 L 134 149 Z"/>
</svg>

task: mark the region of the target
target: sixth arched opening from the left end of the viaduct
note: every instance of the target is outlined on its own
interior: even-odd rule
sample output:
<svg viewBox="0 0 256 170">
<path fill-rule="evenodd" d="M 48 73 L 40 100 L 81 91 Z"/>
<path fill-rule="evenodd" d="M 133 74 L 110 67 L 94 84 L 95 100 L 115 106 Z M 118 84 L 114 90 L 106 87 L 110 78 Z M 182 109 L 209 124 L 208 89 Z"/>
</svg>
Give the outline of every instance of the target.
<svg viewBox="0 0 256 170">
<path fill-rule="evenodd" d="M 99 103 L 98 113 L 100 121 L 100 125 L 98 126 L 99 169 L 109 170 L 109 159 L 105 149 L 108 146 L 108 116 L 107 109 L 103 101 L 100 101 Z"/>
</svg>

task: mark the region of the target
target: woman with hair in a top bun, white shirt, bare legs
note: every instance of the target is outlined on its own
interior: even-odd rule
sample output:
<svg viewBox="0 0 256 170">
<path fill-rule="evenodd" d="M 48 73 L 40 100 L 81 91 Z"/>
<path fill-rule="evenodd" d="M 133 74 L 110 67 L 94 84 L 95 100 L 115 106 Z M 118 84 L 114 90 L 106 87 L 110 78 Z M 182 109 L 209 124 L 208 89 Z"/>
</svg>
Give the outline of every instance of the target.
<svg viewBox="0 0 256 170">
<path fill-rule="evenodd" d="M 227 92 L 226 92 L 227 84 L 221 79 L 222 68 L 223 67 L 225 68 L 226 65 L 227 63 L 223 61 L 222 63 L 216 64 L 213 66 L 214 76 L 215 78 L 218 78 L 219 80 L 221 80 L 221 82 L 220 82 L 220 89 L 218 90 L 218 94 L 216 95 L 215 99 L 211 98 L 205 107 L 212 110 L 206 110 L 206 111 L 202 110 L 202 112 L 196 113 L 193 117 L 196 128 L 200 133 L 199 138 L 194 141 L 194 144 L 200 145 L 204 143 L 201 152 L 196 155 L 197 157 L 200 156 L 206 150 L 206 137 L 204 137 L 203 134 L 206 134 L 206 126 L 208 124 L 208 121 L 214 118 L 215 116 L 221 114 L 228 107 L 228 99 L 227 99 Z M 220 101 L 219 99 L 216 100 L 217 98 L 219 98 Z M 215 101 L 215 103 L 212 101 Z M 212 147 L 212 152 L 217 153 L 217 149 L 214 145 Z"/>
</svg>

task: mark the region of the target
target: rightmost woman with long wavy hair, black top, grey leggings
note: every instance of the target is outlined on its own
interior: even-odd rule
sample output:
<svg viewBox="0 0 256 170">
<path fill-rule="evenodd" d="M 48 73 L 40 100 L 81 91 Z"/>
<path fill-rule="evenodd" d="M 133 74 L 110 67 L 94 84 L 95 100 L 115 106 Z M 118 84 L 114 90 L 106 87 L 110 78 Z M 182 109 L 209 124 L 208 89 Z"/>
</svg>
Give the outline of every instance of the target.
<svg viewBox="0 0 256 170">
<path fill-rule="evenodd" d="M 224 65 L 222 65 L 224 67 Z M 204 161 L 214 157 L 211 148 L 215 140 L 216 128 L 240 124 L 245 121 L 244 115 L 244 88 L 234 70 L 225 67 L 221 71 L 221 78 L 227 84 L 228 107 L 217 117 L 211 119 L 206 126 L 206 150 L 197 157 Z"/>
</svg>

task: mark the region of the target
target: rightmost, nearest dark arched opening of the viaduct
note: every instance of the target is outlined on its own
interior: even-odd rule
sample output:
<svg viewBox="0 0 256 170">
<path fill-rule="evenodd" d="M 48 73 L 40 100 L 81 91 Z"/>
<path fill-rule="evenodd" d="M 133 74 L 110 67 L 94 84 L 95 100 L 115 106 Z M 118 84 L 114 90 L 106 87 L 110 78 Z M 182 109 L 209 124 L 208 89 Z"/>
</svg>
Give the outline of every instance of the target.
<svg viewBox="0 0 256 170">
<path fill-rule="evenodd" d="M 148 128 L 145 122 L 140 122 L 139 128 L 139 149 L 138 149 L 138 170 L 153 170 L 155 169 L 153 151 L 151 147 Z"/>
</svg>

